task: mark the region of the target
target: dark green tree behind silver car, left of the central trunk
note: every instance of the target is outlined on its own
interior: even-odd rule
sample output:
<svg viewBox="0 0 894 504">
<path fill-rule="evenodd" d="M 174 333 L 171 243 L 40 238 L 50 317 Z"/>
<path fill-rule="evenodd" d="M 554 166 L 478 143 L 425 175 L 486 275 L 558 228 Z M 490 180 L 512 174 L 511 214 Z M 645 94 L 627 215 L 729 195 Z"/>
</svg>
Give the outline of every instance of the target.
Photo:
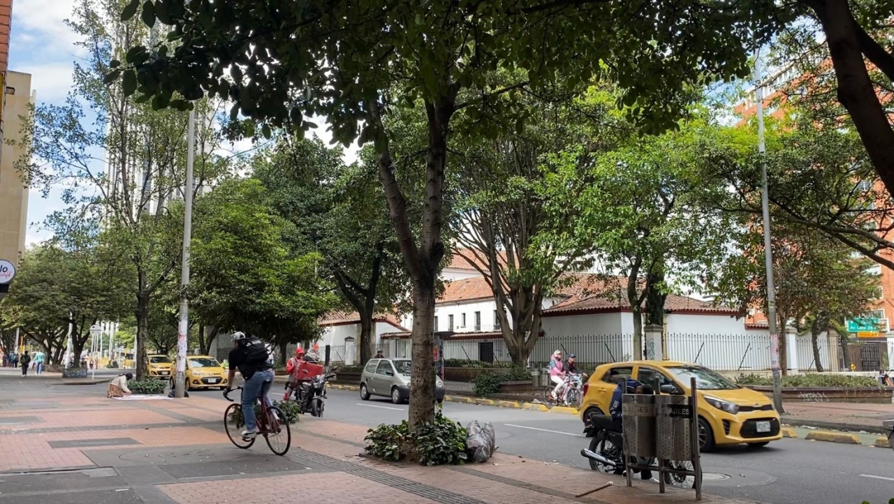
<svg viewBox="0 0 894 504">
<path fill-rule="evenodd" d="M 297 230 L 293 248 L 313 250 L 323 274 L 360 319 L 360 362 L 373 357 L 375 315 L 392 312 L 408 290 L 400 249 L 375 181 L 375 157 L 366 149 L 359 164 L 345 166 L 340 148 L 319 139 L 277 139 L 252 162 L 269 205 Z"/>
</svg>

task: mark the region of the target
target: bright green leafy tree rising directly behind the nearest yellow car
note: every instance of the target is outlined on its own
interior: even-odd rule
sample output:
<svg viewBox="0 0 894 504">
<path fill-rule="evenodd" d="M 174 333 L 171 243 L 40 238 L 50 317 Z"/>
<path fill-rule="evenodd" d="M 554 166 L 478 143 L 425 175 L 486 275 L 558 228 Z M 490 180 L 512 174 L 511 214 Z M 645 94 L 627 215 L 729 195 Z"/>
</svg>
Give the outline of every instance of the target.
<svg viewBox="0 0 894 504">
<path fill-rule="evenodd" d="M 678 286 L 697 286 L 701 275 L 725 256 L 730 218 L 704 205 L 706 195 L 722 191 L 704 178 L 717 150 L 717 127 L 702 117 L 679 131 L 637 139 L 595 158 L 581 185 L 574 172 L 552 181 L 553 204 L 576 208 L 580 224 L 571 239 L 589 241 L 607 267 L 607 293 L 613 273 L 625 277 L 620 298 L 633 312 L 633 352 L 642 357 L 643 315 L 662 323 L 672 268 Z M 568 163 L 577 155 L 566 154 Z M 568 239 L 555 235 L 554 239 Z"/>
</svg>

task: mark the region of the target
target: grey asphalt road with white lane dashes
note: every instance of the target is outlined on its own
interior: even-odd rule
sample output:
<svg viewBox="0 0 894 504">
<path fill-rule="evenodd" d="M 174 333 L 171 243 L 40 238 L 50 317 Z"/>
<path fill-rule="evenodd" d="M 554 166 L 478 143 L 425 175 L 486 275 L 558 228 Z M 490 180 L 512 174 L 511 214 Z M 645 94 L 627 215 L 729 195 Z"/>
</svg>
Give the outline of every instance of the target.
<svg viewBox="0 0 894 504">
<path fill-rule="evenodd" d="M 278 388 L 271 395 L 275 398 Z M 219 391 L 191 393 L 221 397 Z M 361 400 L 358 392 L 329 391 L 328 419 L 374 427 L 407 418 L 407 405 L 386 398 Z M 223 398 L 222 398 L 223 400 Z M 503 453 L 588 468 L 587 445 L 577 416 L 443 403 L 444 414 L 462 424 L 491 422 Z M 704 454 L 704 489 L 715 495 L 773 504 L 872 504 L 894 498 L 894 451 L 802 439 L 783 439 L 763 449 L 734 447 Z M 640 483 L 643 484 L 643 483 Z"/>
</svg>

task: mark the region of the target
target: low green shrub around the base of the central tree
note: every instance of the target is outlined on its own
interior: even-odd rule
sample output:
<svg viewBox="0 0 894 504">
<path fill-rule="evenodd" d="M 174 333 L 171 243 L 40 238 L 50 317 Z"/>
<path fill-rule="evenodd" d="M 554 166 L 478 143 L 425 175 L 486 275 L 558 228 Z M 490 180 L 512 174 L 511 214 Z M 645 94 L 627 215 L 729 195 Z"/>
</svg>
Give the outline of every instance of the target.
<svg viewBox="0 0 894 504">
<path fill-rule="evenodd" d="M 367 453 L 397 462 L 407 459 L 425 466 L 462 464 L 466 461 L 466 429 L 443 416 L 419 426 L 412 433 L 406 420 L 400 424 L 381 424 L 367 431 Z"/>
</svg>

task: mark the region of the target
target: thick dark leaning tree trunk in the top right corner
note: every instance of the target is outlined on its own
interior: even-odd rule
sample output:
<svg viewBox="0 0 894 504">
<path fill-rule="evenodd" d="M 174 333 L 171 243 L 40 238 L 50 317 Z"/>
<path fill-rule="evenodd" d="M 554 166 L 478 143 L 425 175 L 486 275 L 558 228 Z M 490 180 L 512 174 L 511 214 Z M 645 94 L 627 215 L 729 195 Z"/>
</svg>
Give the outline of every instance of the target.
<svg viewBox="0 0 894 504">
<path fill-rule="evenodd" d="M 801 0 L 816 13 L 838 80 L 838 98 L 848 109 L 866 154 L 889 194 L 894 194 L 894 130 L 881 106 L 860 47 L 861 29 L 848 0 Z"/>
</svg>

